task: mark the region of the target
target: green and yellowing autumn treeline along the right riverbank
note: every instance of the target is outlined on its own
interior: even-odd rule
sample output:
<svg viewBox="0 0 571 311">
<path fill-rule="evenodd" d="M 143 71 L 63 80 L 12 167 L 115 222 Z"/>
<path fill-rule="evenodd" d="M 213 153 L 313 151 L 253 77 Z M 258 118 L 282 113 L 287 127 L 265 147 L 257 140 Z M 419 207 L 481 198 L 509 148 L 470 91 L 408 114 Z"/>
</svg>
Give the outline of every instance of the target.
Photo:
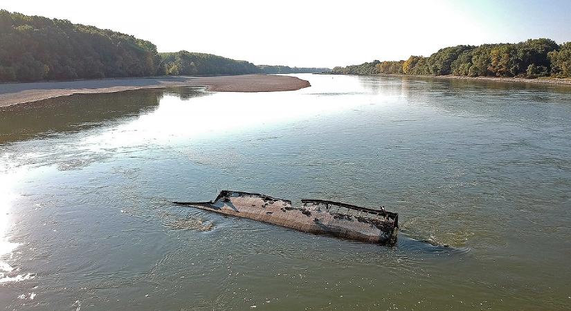
<svg viewBox="0 0 571 311">
<path fill-rule="evenodd" d="M 465 75 L 469 77 L 571 77 L 571 42 L 529 39 L 518 44 L 483 44 L 442 48 L 430 57 L 392 62 L 375 60 L 335 67 L 341 74 Z"/>
</svg>

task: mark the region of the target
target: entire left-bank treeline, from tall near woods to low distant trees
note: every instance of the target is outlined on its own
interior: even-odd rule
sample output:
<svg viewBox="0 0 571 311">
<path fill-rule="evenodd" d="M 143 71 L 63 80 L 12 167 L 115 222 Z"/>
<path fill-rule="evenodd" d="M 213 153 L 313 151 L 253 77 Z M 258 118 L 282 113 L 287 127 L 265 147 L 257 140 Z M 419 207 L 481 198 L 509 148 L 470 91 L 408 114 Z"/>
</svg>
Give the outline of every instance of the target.
<svg viewBox="0 0 571 311">
<path fill-rule="evenodd" d="M 329 71 L 328 68 L 255 66 L 184 50 L 157 53 L 154 44 L 132 35 L 64 19 L 0 10 L 0 82 L 289 73 L 287 70 L 291 73 Z"/>
</svg>

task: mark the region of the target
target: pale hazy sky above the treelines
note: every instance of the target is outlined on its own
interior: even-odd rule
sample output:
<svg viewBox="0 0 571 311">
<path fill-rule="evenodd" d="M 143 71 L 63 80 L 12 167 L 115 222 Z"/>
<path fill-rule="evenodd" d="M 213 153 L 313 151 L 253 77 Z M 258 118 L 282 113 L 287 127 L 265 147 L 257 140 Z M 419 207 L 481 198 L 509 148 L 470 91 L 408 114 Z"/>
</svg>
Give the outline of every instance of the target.
<svg viewBox="0 0 571 311">
<path fill-rule="evenodd" d="M 0 0 L 0 8 L 126 32 L 159 52 L 254 64 L 332 68 L 457 44 L 571 41 L 571 0 Z"/>
</svg>

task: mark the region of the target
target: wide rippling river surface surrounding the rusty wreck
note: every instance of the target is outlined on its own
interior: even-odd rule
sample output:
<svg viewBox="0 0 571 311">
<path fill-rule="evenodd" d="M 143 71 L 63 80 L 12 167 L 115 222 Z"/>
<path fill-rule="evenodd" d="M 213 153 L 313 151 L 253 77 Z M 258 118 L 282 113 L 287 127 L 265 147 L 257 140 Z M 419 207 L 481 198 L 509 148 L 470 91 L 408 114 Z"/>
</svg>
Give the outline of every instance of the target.
<svg viewBox="0 0 571 311">
<path fill-rule="evenodd" d="M 0 307 L 571 308 L 571 88 L 298 76 L 0 111 Z M 170 203 L 220 189 L 384 205 L 399 243 Z"/>
</svg>

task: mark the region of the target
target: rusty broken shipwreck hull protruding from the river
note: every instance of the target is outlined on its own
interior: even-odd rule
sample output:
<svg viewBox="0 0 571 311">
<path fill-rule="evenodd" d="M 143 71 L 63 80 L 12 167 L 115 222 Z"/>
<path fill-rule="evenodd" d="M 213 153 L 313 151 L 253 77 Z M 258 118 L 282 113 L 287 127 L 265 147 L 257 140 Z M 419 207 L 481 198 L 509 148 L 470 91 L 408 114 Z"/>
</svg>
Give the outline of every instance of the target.
<svg viewBox="0 0 571 311">
<path fill-rule="evenodd" d="M 329 200 L 291 200 L 264 194 L 223 190 L 214 201 L 174 202 L 219 214 L 239 216 L 312 234 L 329 234 L 355 241 L 395 245 L 399 214 Z"/>
</svg>

